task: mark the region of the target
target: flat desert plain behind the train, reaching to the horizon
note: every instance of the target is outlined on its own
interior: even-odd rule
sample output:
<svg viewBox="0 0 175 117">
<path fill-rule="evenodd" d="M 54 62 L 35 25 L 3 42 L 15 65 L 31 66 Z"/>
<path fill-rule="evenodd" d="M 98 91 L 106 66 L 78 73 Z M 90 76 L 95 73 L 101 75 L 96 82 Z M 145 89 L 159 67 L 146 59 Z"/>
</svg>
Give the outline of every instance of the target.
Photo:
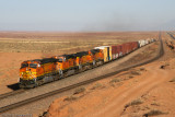
<svg viewBox="0 0 175 117">
<path fill-rule="evenodd" d="M 158 32 L 57 33 L 0 32 L 0 94 L 18 83 L 21 62 L 55 55 L 89 50 L 95 46 L 117 45 L 154 38 Z"/>
</svg>

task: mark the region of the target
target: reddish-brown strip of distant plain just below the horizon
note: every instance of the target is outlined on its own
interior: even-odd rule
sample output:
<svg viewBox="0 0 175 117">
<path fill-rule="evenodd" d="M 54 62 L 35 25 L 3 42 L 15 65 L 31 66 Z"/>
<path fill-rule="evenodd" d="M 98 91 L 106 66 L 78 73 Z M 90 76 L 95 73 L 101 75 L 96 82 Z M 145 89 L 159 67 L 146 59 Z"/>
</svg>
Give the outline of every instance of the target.
<svg viewBox="0 0 175 117">
<path fill-rule="evenodd" d="M 156 37 L 158 32 L 98 32 L 98 33 L 61 33 L 61 32 L 0 32 L 1 39 L 45 39 L 45 40 L 63 40 L 81 38 L 110 38 L 110 39 L 140 39 Z"/>
</svg>

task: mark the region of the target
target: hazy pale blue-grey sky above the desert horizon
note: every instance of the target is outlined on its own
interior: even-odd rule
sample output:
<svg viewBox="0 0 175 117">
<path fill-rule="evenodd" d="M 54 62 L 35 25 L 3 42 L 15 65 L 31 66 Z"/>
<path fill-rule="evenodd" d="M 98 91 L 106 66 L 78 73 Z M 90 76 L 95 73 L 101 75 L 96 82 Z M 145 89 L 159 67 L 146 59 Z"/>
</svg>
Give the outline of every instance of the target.
<svg viewBox="0 0 175 117">
<path fill-rule="evenodd" d="M 0 0 L 0 31 L 175 30 L 175 0 Z"/>
</svg>

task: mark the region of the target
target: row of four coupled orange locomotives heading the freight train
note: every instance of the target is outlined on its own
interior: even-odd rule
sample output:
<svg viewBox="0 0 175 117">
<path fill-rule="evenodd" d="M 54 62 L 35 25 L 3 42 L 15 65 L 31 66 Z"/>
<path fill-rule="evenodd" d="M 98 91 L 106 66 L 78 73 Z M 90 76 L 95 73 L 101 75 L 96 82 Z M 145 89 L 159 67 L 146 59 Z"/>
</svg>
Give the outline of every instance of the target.
<svg viewBox="0 0 175 117">
<path fill-rule="evenodd" d="M 92 49 L 21 63 L 20 87 L 34 87 L 103 65 L 103 51 Z"/>
</svg>

